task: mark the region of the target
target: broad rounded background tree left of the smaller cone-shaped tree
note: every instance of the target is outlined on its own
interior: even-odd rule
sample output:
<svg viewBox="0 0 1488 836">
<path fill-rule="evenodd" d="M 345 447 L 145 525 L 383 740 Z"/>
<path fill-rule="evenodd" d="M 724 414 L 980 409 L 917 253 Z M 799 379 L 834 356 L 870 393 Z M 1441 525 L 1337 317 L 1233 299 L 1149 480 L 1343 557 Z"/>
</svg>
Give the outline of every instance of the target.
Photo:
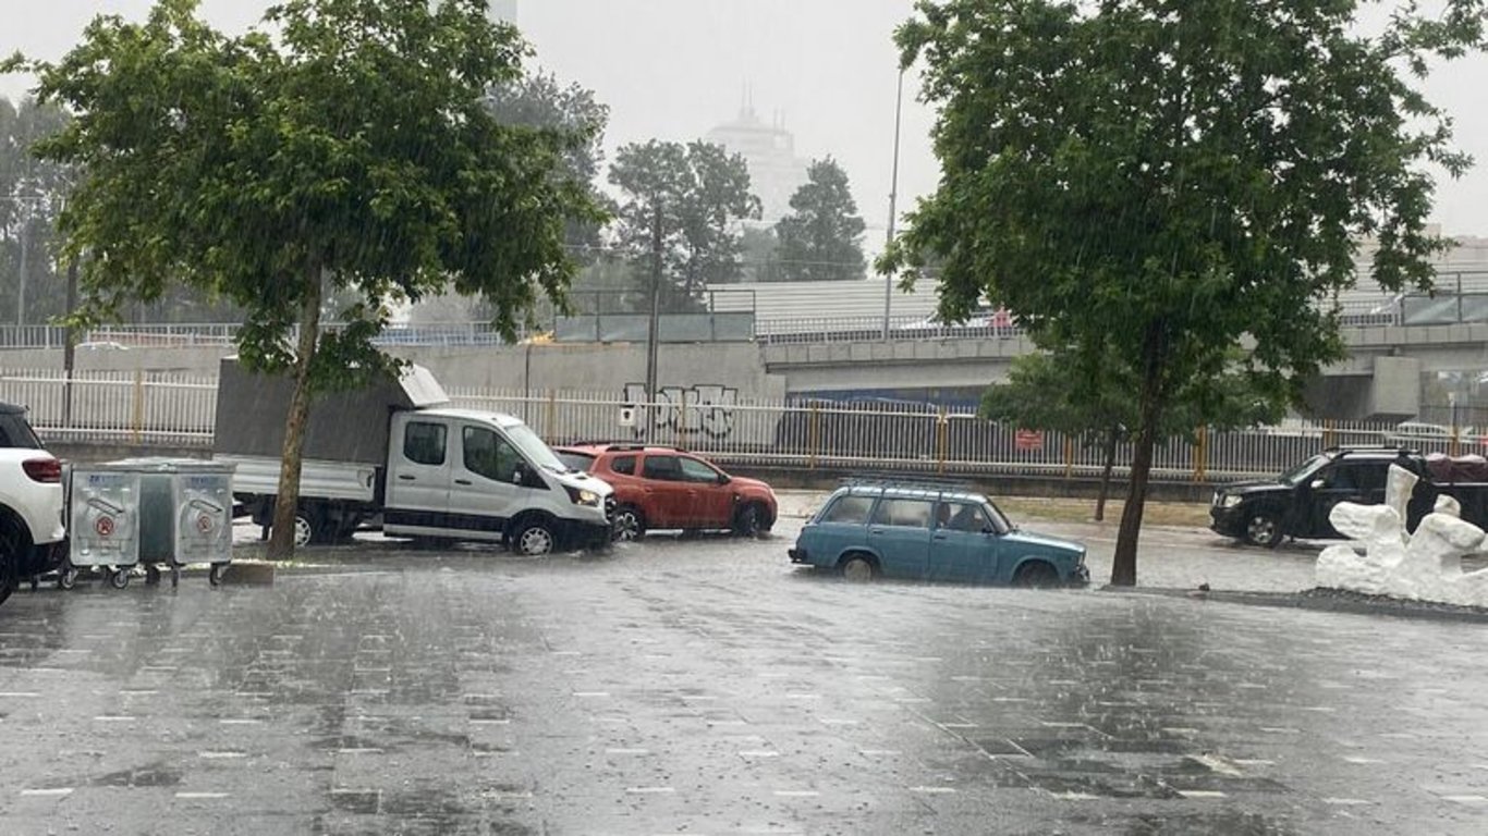
<svg viewBox="0 0 1488 836">
<path fill-rule="evenodd" d="M 616 235 L 647 277 L 661 220 L 667 309 L 695 306 L 710 283 L 738 281 L 741 222 L 760 214 L 743 156 L 704 141 L 628 144 L 615 155 L 610 183 L 623 193 Z"/>
</svg>

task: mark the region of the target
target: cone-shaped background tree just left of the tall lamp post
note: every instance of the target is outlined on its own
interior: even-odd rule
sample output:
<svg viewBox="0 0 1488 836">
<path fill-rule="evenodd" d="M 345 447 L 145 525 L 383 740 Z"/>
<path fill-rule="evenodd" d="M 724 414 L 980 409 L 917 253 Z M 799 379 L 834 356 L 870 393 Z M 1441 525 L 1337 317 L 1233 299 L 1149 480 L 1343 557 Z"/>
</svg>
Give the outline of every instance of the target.
<svg viewBox="0 0 1488 836">
<path fill-rule="evenodd" d="M 830 156 L 811 164 L 790 198 L 793 214 L 775 225 L 784 281 L 863 278 L 863 219 L 847 171 Z"/>
</svg>

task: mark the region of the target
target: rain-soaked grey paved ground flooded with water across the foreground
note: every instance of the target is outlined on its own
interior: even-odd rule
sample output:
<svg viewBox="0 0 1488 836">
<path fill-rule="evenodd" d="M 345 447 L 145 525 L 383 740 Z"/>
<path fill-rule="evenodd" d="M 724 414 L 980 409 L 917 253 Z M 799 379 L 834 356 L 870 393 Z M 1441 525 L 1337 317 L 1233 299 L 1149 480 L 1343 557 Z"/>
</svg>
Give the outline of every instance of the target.
<svg viewBox="0 0 1488 836">
<path fill-rule="evenodd" d="M 1488 832 L 1482 623 L 853 586 L 789 565 L 799 525 L 22 589 L 0 832 Z M 1037 528 L 1109 576 L 1113 527 Z M 1292 592 L 1314 556 L 1155 530 L 1140 571 Z"/>
</svg>

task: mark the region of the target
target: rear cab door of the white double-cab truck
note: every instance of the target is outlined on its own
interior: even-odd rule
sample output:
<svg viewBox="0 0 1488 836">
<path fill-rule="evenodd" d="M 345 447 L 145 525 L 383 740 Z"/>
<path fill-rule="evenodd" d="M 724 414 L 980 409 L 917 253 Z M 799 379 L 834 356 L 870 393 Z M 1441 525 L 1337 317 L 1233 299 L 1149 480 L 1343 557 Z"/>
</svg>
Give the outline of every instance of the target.
<svg viewBox="0 0 1488 836">
<path fill-rule="evenodd" d="M 442 528 L 449 510 L 449 419 L 396 419 L 384 522 L 402 528 Z"/>
</svg>

